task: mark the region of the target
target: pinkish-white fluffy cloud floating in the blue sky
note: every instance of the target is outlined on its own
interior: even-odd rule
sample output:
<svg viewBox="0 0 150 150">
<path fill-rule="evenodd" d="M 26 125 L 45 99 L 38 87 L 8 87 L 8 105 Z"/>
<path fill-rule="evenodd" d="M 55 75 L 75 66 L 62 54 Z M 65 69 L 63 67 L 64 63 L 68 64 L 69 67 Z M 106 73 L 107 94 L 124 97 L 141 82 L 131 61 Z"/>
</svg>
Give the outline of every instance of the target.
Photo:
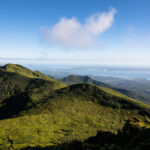
<svg viewBox="0 0 150 150">
<path fill-rule="evenodd" d="M 51 28 L 43 30 L 44 38 L 48 42 L 57 42 L 66 46 L 86 48 L 94 43 L 99 35 L 112 26 L 116 10 L 89 16 L 84 23 L 75 17 L 61 18 Z"/>
</svg>

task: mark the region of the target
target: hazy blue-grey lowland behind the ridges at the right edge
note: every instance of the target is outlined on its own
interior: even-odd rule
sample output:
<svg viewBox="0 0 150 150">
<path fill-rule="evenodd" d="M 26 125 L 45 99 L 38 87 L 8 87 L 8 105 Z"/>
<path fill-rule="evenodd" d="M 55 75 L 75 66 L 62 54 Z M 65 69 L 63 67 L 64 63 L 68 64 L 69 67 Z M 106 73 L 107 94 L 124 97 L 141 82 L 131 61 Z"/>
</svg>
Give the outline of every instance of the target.
<svg viewBox="0 0 150 150">
<path fill-rule="evenodd" d="M 124 79 L 116 77 L 91 76 L 92 79 L 126 89 L 134 93 L 132 98 L 150 104 L 150 80 L 143 78 Z"/>
</svg>

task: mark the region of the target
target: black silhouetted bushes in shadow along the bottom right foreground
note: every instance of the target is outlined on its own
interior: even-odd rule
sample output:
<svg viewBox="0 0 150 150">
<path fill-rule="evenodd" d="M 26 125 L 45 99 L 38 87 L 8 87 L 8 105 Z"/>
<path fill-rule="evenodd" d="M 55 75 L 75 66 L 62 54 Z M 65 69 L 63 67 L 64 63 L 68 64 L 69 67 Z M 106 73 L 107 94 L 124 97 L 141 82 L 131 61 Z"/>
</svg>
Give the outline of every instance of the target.
<svg viewBox="0 0 150 150">
<path fill-rule="evenodd" d="M 72 141 L 50 147 L 26 147 L 21 150 L 149 150 L 150 128 L 140 127 L 137 118 L 128 120 L 118 134 L 99 131 L 87 140 Z"/>
</svg>

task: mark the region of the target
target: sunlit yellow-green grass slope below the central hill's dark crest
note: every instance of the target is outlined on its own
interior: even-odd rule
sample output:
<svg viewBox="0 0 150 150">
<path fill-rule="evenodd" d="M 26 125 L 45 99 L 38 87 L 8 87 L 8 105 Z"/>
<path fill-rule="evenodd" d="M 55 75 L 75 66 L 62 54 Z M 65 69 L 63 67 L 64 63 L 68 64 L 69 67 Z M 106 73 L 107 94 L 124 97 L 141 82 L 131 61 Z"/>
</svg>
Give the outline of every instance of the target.
<svg viewBox="0 0 150 150">
<path fill-rule="evenodd" d="M 98 130 L 116 133 L 129 117 L 140 117 L 136 111 L 114 110 L 87 101 L 55 101 L 53 106 L 53 113 L 1 120 L 0 148 L 45 147 L 83 140 L 95 136 Z"/>
</svg>

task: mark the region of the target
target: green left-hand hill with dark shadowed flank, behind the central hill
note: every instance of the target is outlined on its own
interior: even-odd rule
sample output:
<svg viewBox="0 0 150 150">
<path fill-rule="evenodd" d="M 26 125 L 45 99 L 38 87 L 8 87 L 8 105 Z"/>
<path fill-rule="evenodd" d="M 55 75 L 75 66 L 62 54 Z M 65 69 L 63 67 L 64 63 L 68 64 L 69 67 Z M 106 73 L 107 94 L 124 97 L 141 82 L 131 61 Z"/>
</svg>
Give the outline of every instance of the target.
<svg viewBox="0 0 150 150">
<path fill-rule="evenodd" d="M 34 72 L 20 65 L 9 64 L 0 68 L 0 119 L 16 115 L 42 101 L 54 90 L 66 86 L 46 75 L 42 75 L 45 76 L 42 79 L 42 76 L 31 77 L 31 74 Z"/>
</svg>

